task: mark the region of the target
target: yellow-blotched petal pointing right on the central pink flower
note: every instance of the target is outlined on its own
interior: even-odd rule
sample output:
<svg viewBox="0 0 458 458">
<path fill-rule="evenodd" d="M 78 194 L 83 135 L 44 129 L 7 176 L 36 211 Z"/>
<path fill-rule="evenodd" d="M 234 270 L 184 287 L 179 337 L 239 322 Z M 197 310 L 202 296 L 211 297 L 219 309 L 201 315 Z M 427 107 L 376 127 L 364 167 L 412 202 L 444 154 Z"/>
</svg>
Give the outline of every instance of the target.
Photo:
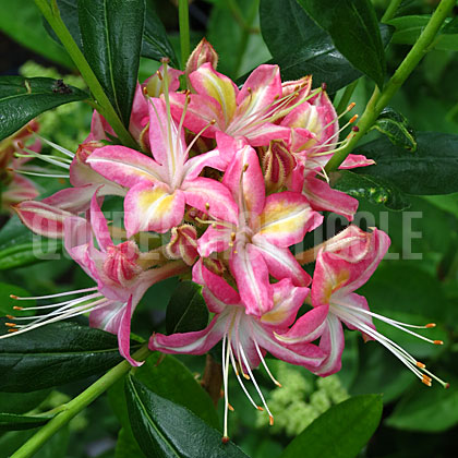
<svg viewBox="0 0 458 458">
<path fill-rule="evenodd" d="M 260 229 L 253 240 L 263 239 L 276 246 L 290 246 L 303 240 L 323 221 L 308 200 L 293 192 L 270 194 L 260 215 Z"/>
</svg>

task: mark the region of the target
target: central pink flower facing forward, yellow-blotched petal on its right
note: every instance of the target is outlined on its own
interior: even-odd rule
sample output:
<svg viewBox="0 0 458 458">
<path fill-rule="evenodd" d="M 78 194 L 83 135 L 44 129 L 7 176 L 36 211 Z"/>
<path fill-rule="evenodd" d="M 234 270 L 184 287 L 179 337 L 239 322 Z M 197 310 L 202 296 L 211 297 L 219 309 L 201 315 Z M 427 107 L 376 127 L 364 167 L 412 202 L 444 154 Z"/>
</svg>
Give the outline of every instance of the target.
<svg viewBox="0 0 458 458">
<path fill-rule="evenodd" d="M 323 217 L 313 212 L 304 196 L 293 192 L 266 197 L 256 153 L 243 146 L 222 179 L 239 205 L 237 225 L 214 221 L 198 240 L 201 256 L 229 250 L 229 265 L 250 314 L 263 315 L 273 308 L 269 274 L 308 286 L 310 276 L 289 251 Z"/>
</svg>

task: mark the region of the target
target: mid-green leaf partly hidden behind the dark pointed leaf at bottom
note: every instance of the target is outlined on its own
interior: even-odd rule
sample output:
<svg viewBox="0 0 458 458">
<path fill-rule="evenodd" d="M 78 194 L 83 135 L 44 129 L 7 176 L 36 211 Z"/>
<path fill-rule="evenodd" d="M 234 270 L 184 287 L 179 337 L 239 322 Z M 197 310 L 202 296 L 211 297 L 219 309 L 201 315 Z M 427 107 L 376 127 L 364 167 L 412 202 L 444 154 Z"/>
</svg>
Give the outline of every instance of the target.
<svg viewBox="0 0 458 458">
<path fill-rule="evenodd" d="M 155 352 L 135 371 L 134 377 L 157 395 L 190 409 L 210 426 L 218 429 L 219 419 L 210 397 L 177 358 Z M 123 381 L 110 388 L 108 395 L 121 424 L 130 430 Z"/>
</svg>

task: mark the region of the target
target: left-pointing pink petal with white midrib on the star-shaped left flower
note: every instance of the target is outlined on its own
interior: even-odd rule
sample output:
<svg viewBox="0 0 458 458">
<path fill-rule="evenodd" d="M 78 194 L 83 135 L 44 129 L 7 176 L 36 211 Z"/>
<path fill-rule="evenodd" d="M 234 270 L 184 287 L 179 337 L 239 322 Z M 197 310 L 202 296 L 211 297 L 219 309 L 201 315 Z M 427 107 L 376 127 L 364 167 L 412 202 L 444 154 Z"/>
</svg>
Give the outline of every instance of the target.
<svg viewBox="0 0 458 458">
<path fill-rule="evenodd" d="M 126 188 L 140 182 L 162 181 L 161 167 L 155 160 L 125 146 L 104 146 L 96 149 L 86 161 L 108 180 Z"/>
</svg>

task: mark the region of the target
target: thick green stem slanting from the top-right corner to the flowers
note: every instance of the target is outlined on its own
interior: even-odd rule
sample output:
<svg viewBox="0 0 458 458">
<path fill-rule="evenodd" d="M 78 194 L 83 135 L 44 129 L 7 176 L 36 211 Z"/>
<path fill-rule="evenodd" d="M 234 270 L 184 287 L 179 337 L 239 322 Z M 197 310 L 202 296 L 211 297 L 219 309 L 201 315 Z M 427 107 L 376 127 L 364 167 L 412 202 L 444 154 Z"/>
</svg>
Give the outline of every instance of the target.
<svg viewBox="0 0 458 458">
<path fill-rule="evenodd" d="M 423 56 L 427 52 L 427 48 L 433 43 L 444 21 L 451 12 L 451 9 L 455 7 L 455 2 L 456 0 L 441 1 L 419 39 L 413 45 L 412 49 L 406 56 L 403 61 L 400 63 L 395 74 L 385 85 L 383 92 L 381 93 L 379 89 L 375 87 L 374 93 L 372 94 L 372 97 L 369 100 L 367 106 L 365 107 L 365 110 L 358 123 L 359 132 L 354 133 L 349 138 L 347 145 L 329 159 L 325 167 L 325 171 L 327 173 L 336 170 L 340 164 L 343 162 L 360 138 L 372 128 L 378 118 L 378 114 L 387 106 L 391 97 L 396 94 L 399 87 L 402 86 L 410 73 L 412 73 Z"/>
</svg>

